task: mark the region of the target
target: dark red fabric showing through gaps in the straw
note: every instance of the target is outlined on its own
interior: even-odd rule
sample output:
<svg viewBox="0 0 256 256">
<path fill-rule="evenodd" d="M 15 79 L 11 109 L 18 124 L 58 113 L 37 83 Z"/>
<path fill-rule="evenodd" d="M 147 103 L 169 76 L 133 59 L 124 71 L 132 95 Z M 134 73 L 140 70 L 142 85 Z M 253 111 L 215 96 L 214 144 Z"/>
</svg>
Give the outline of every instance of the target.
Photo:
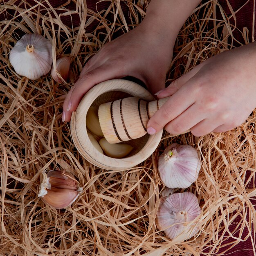
<svg viewBox="0 0 256 256">
<path fill-rule="evenodd" d="M 4 2 L 7 2 L 7 1 L 4 0 Z M 30 4 L 34 3 L 33 0 L 29 0 L 27 2 L 29 2 Z M 57 8 L 58 6 L 61 6 L 62 4 L 64 4 L 66 1 L 64 1 L 64 0 L 58 0 L 58 1 L 57 0 L 55 0 L 55 1 L 49 0 L 49 2 L 52 4 L 53 7 Z M 225 0 L 220 0 L 219 2 L 221 4 L 221 6 L 225 9 L 227 16 L 231 15 L 231 11 L 229 10 L 227 2 Z M 247 2 L 247 0 L 229 0 L 229 3 L 231 4 L 234 11 L 240 9 L 240 7 L 242 7 L 246 2 Z M 101 11 L 102 9 L 106 9 L 109 6 L 109 4 L 110 4 L 110 2 L 99 2 L 98 0 L 87 0 L 88 9 L 91 9 L 95 12 L 97 10 Z M 97 8 L 96 8 L 96 6 L 97 6 Z M 126 15 L 126 18 L 129 19 L 128 18 L 128 7 L 126 6 L 126 4 L 122 4 L 122 7 L 124 8 L 123 11 L 124 11 L 124 14 Z M 76 9 L 75 4 L 73 2 L 71 2 L 68 6 L 68 9 L 75 10 Z M 0 13 L 0 20 L 9 19 L 11 14 L 12 14 L 11 12 L 9 14 Z M 243 36 L 240 33 L 240 31 L 243 31 L 243 27 L 247 27 L 247 29 L 249 30 L 249 42 L 252 42 L 254 40 L 254 38 L 252 37 L 252 35 L 253 35 L 253 33 L 252 33 L 253 14 L 254 14 L 254 0 L 249 0 L 245 4 L 245 6 L 240 11 L 238 11 L 238 13 L 236 13 L 236 22 L 237 22 L 236 26 L 238 27 L 238 29 L 236 29 L 234 31 L 234 36 L 242 44 L 245 44 L 245 40 L 243 39 Z M 220 14 L 218 15 L 218 18 L 221 19 Z M 70 16 L 62 16 L 61 19 L 63 20 L 63 23 L 65 25 L 67 25 L 68 27 L 71 27 L 72 25 L 73 25 L 73 27 L 78 27 L 80 25 L 79 17 L 76 15 L 73 15 L 72 18 Z M 111 19 L 111 17 L 108 17 L 108 19 Z M 86 32 L 90 33 L 92 31 L 94 31 L 96 26 L 97 26 L 97 22 L 93 22 L 89 27 L 87 27 Z M 120 33 L 121 32 L 119 32 L 118 34 L 115 34 L 114 36 L 117 37 L 120 35 Z M 237 44 L 237 46 L 239 46 L 239 44 Z M 253 188 L 253 186 L 251 186 L 251 188 Z M 252 201 L 252 203 L 255 205 L 256 200 Z M 256 205 L 254 207 L 256 209 Z M 230 231 L 232 231 L 232 225 L 230 227 Z M 247 231 L 247 229 L 244 229 L 243 237 L 245 237 L 246 234 L 248 234 L 248 231 Z M 228 234 L 225 234 L 225 236 L 228 236 Z M 229 238 L 229 240 L 226 243 L 229 243 L 232 240 L 233 240 L 232 238 Z M 245 242 L 240 242 L 238 245 L 236 245 L 232 249 L 225 252 L 225 250 L 227 248 L 228 248 L 228 246 L 220 249 L 220 251 L 218 252 L 218 255 L 254 256 L 254 252 L 252 249 L 252 241 L 250 239 L 247 239 L 247 241 L 245 241 Z M 207 249 L 205 249 L 204 252 L 207 252 Z M 222 252 L 225 252 L 225 253 L 222 254 Z"/>
</svg>

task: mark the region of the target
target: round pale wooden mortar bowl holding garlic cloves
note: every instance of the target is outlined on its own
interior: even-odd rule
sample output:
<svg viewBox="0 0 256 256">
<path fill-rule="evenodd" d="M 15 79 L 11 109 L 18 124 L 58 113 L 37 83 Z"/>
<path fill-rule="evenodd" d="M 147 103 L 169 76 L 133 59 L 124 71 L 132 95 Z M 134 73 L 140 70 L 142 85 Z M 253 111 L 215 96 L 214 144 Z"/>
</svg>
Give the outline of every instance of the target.
<svg viewBox="0 0 256 256">
<path fill-rule="evenodd" d="M 153 101 L 154 97 L 145 88 L 128 80 L 114 79 L 95 85 L 85 94 L 78 108 L 71 117 L 71 135 L 79 153 L 91 164 L 106 170 L 121 171 L 140 164 L 153 154 L 157 148 L 162 130 L 154 135 L 144 135 L 141 138 L 126 141 L 133 150 L 124 158 L 112 158 L 101 154 L 92 145 L 86 128 L 86 115 L 90 106 L 99 107 L 102 103 L 138 97 L 145 101 Z"/>
</svg>

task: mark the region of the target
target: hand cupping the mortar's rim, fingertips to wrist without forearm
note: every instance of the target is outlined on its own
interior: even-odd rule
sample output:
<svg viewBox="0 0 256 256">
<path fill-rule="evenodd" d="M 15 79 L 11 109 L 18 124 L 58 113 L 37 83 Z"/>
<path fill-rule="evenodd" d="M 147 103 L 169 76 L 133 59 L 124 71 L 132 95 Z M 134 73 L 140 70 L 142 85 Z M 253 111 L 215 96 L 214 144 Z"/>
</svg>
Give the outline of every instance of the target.
<svg viewBox="0 0 256 256">
<path fill-rule="evenodd" d="M 159 32 L 139 25 L 107 43 L 86 63 L 67 94 L 63 121 L 70 121 L 72 111 L 76 110 L 85 93 L 102 81 L 133 76 L 144 82 L 153 94 L 165 88 L 174 40 L 175 37 L 172 40 L 170 35 L 159 35 Z"/>
</svg>

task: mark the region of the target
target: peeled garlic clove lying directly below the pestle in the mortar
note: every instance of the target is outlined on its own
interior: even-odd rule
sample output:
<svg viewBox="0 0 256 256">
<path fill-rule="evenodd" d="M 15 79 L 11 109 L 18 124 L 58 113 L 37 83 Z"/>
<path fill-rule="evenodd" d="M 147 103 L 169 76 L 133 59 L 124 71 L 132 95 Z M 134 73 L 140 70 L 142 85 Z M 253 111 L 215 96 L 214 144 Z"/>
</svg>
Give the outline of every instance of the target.
<svg viewBox="0 0 256 256">
<path fill-rule="evenodd" d="M 132 151 L 129 144 L 110 144 L 105 138 L 99 140 L 99 144 L 107 156 L 122 158 Z"/>
</svg>

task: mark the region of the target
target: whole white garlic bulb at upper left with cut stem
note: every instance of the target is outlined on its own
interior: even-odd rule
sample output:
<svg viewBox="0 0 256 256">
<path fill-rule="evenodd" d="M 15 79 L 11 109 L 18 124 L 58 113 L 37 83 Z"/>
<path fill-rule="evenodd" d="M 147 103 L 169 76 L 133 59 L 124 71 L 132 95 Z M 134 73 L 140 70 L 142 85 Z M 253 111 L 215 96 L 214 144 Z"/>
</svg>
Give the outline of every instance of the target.
<svg viewBox="0 0 256 256">
<path fill-rule="evenodd" d="M 39 34 L 26 34 L 10 51 L 10 63 L 21 76 L 38 79 L 52 67 L 52 44 Z"/>
</svg>

